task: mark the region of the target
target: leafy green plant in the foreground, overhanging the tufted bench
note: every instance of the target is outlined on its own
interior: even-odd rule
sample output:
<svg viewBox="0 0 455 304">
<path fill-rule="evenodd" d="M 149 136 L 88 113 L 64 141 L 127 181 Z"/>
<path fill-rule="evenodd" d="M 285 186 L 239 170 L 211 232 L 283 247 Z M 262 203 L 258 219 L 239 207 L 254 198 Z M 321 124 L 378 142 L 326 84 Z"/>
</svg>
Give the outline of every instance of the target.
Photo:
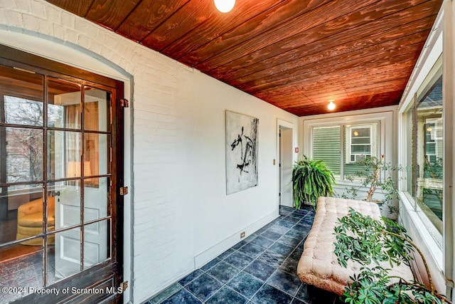
<svg viewBox="0 0 455 304">
<path fill-rule="evenodd" d="M 434 289 L 427 262 L 404 227 L 390 219 L 378 221 L 363 216 L 352 208 L 347 216 L 338 220 L 340 225 L 335 227 L 334 251 L 338 263 L 346 267 L 347 261 L 352 260 L 362 266 L 358 275 L 350 277 L 352 283 L 348 283 L 343 293 L 345 303 L 451 303 Z M 400 263 L 410 266 L 415 251 L 422 257 L 429 286 L 415 279 L 408 282 L 404 278 L 390 276 L 389 269 L 379 264 L 380 261 L 388 261 L 391 268 Z"/>
</svg>

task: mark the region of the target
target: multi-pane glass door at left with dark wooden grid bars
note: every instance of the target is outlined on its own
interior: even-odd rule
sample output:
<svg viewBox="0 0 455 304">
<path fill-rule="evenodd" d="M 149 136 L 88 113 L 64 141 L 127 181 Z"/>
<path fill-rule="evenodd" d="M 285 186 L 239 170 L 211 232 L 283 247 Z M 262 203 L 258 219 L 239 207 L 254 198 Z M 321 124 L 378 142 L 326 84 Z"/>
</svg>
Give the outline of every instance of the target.
<svg viewBox="0 0 455 304">
<path fill-rule="evenodd" d="M 117 196 L 111 152 L 117 150 L 112 149 L 111 99 L 116 91 L 87 83 L 0 65 L 4 285 L 36 290 L 64 285 L 70 276 L 84 282 L 81 273 L 96 266 L 112 272 L 112 199 Z M 33 289 L 0 293 L 0 303 Z"/>
</svg>

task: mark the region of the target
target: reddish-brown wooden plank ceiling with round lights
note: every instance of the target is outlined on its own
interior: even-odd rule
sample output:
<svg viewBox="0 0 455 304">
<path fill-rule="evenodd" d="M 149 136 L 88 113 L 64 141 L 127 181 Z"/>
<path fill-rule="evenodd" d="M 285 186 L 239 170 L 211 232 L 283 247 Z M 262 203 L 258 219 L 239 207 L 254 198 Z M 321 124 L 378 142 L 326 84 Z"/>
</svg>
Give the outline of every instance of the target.
<svg viewBox="0 0 455 304">
<path fill-rule="evenodd" d="M 48 0 L 295 115 L 397 105 L 442 0 Z"/>
</svg>

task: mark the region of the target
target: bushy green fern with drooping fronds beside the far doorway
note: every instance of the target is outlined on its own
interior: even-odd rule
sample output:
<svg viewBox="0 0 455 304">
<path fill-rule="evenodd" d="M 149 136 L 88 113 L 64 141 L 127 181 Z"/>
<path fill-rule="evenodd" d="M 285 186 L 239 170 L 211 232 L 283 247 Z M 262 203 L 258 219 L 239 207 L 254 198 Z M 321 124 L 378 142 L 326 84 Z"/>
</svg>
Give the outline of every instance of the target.
<svg viewBox="0 0 455 304">
<path fill-rule="evenodd" d="M 309 159 L 304 155 L 294 164 L 292 184 L 294 204 L 296 209 L 300 209 L 304 201 L 315 205 L 319 196 L 331 195 L 335 177 L 321 160 Z"/>
</svg>

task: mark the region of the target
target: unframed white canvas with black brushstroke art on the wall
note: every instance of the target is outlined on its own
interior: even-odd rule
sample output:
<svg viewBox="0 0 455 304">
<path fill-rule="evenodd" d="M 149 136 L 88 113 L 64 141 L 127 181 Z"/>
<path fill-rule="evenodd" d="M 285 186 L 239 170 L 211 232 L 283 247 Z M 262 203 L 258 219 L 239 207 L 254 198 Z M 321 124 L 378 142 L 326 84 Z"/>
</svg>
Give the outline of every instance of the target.
<svg viewBox="0 0 455 304">
<path fill-rule="evenodd" d="M 226 194 L 257 186 L 258 122 L 226 111 Z"/>
</svg>

